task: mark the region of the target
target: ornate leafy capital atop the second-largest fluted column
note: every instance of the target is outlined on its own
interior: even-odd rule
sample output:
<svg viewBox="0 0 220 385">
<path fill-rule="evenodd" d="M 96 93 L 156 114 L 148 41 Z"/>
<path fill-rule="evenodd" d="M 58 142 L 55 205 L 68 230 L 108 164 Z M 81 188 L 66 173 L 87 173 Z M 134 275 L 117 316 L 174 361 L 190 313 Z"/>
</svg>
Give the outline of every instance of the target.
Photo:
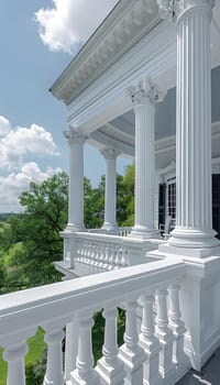
<svg viewBox="0 0 220 385">
<path fill-rule="evenodd" d="M 151 78 L 139 80 L 134 86 L 127 89 L 127 94 L 130 96 L 134 107 L 145 103 L 155 106 L 166 95 Z"/>
</svg>

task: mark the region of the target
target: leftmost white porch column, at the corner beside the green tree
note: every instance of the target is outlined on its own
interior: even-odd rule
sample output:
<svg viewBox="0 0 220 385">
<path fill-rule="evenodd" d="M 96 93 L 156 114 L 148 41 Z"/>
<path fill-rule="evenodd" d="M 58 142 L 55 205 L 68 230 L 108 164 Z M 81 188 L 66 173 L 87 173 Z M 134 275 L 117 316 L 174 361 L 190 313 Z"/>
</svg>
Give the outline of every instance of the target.
<svg viewBox="0 0 220 385">
<path fill-rule="evenodd" d="M 84 143 L 86 138 L 69 129 L 64 132 L 69 143 L 68 231 L 84 230 Z"/>
</svg>

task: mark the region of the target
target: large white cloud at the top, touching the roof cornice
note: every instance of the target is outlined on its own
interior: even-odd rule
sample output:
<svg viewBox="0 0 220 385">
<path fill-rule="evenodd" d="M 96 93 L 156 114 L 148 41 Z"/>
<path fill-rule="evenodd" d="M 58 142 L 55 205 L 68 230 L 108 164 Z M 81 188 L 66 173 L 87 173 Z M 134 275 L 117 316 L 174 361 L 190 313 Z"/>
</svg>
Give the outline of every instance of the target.
<svg viewBox="0 0 220 385">
<path fill-rule="evenodd" d="M 52 0 L 35 13 L 38 33 L 51 51 L 76 52 L 118 0 Z"/>
</svg>

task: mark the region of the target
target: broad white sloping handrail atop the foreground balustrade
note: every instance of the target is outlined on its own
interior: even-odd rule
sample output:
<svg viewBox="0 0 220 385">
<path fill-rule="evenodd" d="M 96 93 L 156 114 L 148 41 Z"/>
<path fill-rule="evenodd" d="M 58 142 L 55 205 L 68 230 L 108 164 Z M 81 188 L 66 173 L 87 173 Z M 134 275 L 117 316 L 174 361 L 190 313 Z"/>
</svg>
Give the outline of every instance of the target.
<svg viewBox="0 0 220 385">
<path fill-rule="evenodd" d="M 6 333 L 38 326 L 52 318 L 70 315 L 92 305 L 129 297 L 138 292 L 156 288 L 162 283 L 180 279 L 185 265 L 173 258 L 150 262 L 113 272 L 95 274 L 22 292 L 1 295 L 0 343 Z"/>
</svg>

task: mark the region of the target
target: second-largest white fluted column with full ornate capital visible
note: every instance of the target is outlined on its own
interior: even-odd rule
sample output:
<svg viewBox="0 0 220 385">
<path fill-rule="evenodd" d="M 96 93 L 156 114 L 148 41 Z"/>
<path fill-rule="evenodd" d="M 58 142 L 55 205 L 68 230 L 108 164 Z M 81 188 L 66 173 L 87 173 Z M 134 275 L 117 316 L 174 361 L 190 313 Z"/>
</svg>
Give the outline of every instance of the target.
<svg viewBox="0 0 220 385">
<path fill-rule="evenodd" d="M 150 79 L 129 90 L 135 113 L 135 224 L 131 237 L 150 239 L 154 228 L 154 128 L 155 105 L 162 94 Z"/>
</svg>

